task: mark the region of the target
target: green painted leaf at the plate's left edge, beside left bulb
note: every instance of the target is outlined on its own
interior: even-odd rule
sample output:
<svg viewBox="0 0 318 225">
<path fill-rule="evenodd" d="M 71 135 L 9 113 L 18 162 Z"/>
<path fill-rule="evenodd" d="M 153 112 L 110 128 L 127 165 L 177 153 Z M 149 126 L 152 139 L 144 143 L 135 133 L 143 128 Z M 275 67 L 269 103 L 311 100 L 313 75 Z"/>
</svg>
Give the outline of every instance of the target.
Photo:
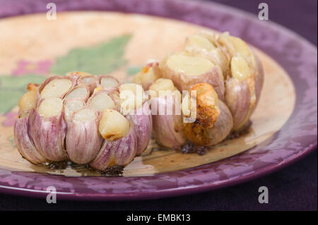
<svg viewBox="0 0 318 225">
<path fill-rule="evenodd" d="M 0 76 L 0 113 L 6 113 L 18 104 L 18 99 L 27 92 L 28 83 L 42 83 L 45 77 L 42 75 L 23 75 L 14 77 L 11 75 Z"/>
</svg>

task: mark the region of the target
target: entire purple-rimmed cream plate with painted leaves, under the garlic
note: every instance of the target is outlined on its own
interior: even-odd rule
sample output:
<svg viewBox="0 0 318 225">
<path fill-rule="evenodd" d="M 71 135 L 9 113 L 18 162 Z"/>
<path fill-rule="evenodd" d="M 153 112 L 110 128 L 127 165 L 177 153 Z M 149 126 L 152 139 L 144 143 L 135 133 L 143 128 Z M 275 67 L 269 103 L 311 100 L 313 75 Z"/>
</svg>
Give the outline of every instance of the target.
<svg viewBox="0 0 318 225">
<path fill-rule="evenodd" d="M 47 20 L 44 13 L 0 20 L 0 30 L 4 31 L 0 42 L 6 43 L 0 49 L 1 192 L 42 197 L 47 195 L 48 186 L 54 186 L 60 199 L 130 200 L 183 195 L 269 174 L 317 147 L 316 47 L 269 21 L 217 4 L 110 2 L 102 8 L 129 14 L 78 11 L 58 13 L 57 20 Z M 134 11 L 129 7 L 132 3 Z M 66 11 L 83 9 L 62 7 Z M 155 150 L 152 142 L 124 169 L 123 176 L 112 177 L 78 165 L 52 171 L 30 164 L 18 154 L 13 123 L 18 98 L 28 83 L 40 83 L 49 74 L 74 70 L 110 73 L 131 80 L 148 59 L 162 59 L 181 49 L 187 35 L 211 29 L 228 30 L 245 39 L 264 65 L 264 90 L 247 135 L 220 143 L 204 156 Z"/>
</svg>

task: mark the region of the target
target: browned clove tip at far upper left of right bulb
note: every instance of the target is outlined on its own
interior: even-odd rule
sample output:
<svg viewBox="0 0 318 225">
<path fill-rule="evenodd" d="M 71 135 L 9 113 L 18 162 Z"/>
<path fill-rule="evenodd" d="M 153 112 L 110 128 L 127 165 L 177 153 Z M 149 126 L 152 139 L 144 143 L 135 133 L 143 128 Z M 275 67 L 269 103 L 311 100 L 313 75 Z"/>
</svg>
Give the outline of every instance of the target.
<svg viewBox="0 0 318 225">
<path fill-rule="evenodd" d="M 141 68 L 139 73 L 134 75 L 134 83 L 142 85 L 143 90 L 148 90 L 148 87 L 160 78 L 160 70 L 158 69 L 158 61 L 148 63 L 146 66 Z"/>
</svg>

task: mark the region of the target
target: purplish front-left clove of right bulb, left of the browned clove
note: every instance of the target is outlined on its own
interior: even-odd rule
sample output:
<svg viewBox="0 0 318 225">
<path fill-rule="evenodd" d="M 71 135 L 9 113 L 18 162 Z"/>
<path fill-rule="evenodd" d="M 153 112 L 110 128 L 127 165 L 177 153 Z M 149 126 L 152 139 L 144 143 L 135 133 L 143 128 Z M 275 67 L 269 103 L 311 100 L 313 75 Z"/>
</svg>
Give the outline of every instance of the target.
<svg viewBox="0 0 318 225">
<path fill-rule="evenodd" d="M 153 136 L 159 145 L 165 147 L 179 147 L 184 145 L 186 137 L 184 131 L 179 129 L 182 124 L 182 115 L 175 111 L 175 97 L 155 97 L 152 99 L 151 107 L 156 105 L 157 109 L 153 115 Z M 160 107 L 167 111 L 172 106 L 172 115 L 160 115 Z M 180 109 L 181 111 L 181 109 Z"/>
</svg>

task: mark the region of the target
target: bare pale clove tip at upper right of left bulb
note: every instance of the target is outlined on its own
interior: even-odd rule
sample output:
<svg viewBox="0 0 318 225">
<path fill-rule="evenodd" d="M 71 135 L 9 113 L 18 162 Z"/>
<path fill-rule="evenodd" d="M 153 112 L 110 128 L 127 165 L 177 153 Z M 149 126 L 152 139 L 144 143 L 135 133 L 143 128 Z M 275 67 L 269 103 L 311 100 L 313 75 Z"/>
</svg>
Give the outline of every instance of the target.
<svg viewBox="0 0 318 225">
<path fill-rule="evenodd" d="M 120 112 L 123 115 L 129 114 L 142 106 L 144 92 L 141 85 L 127 83 L 119 86 Z"/>
</svg>

